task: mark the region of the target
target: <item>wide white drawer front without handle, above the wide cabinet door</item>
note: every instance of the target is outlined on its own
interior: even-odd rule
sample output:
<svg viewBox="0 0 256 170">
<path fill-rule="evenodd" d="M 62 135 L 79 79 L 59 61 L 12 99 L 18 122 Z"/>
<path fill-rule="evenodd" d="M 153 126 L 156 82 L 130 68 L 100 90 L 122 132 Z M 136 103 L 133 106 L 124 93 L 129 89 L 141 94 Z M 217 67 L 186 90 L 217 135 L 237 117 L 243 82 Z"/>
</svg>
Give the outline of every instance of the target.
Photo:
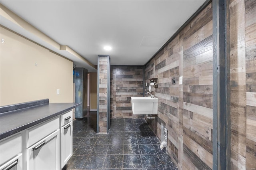
<svg viewBox="0 0 256 170">
<path fill-rule="evenodd" d="M 59 117 L 55 117 L 26 130 L 26 148 L 54 132 L 59 126 L 60 119 Z"/>
</svg>

